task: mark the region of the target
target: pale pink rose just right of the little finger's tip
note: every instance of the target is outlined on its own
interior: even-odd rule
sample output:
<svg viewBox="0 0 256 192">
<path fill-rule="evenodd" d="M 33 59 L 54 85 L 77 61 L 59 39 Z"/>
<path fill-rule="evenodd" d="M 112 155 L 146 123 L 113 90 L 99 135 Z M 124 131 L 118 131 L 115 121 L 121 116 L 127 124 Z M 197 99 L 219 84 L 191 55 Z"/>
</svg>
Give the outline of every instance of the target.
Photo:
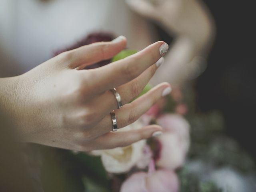
<svg viewBox="0 0 256 192">
<path fill-rule="evenodd" d="M 186 153 L 190 145 L 190 126 L 178 114 L 165 114 L 160 116 L 156 121 L 164 129 L 164 134 L 156 138 L 159 144 L 156 165 L 175 170 L 185 162 Z"/>
</svg>

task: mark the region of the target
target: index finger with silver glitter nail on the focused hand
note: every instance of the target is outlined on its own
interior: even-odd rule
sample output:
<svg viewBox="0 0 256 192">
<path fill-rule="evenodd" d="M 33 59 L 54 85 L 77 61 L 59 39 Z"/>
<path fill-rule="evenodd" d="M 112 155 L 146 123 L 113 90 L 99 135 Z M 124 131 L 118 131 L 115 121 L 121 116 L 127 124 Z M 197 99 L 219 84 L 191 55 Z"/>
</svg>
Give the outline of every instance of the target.
<svg viewBox="0 0 256 192">
<path fill-rule="evenodd" d="M 92 89 L 96 86 L 97 89 L 93 91 L 99 93 L 127 83 L 157 62 L 167 50 L 168 45 L 159 41 L 132 56 L 92 69 L 90 70 L 91 75 L 97 76 L 97 78 L 94 78 L 89 86 Z"/>
</svg>

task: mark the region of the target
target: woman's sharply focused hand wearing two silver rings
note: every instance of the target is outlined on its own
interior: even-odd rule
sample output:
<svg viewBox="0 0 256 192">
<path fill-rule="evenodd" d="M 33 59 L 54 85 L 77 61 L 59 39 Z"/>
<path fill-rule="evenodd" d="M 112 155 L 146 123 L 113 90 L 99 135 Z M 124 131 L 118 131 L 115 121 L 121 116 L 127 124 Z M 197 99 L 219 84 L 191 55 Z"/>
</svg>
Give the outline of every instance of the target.
<svg viewBox="0 0 256 192">
<path fill-rule="evenodd" d="M 20 139 L 90 151 L 126 146 L 162 130 L 152 125 L 111 132 L 110 112 L 115 110 L 117 126 L 122 128 L 170 92 L 170 85 L 162 83 L 129 103 L 143 90 L 162 61 L 159 59 L 167 51 L 164 42 L 156 42 L 106 66 L 83 70 L 112 58 L 125 47 L 126 38 L 120 36 L 112 42 L 98 42 L 59 54 L 23 75 L 0 79 L 0 99 Z M 113 87 L 124 104 L 120 109 L 110 91 Z"/>
</svg>

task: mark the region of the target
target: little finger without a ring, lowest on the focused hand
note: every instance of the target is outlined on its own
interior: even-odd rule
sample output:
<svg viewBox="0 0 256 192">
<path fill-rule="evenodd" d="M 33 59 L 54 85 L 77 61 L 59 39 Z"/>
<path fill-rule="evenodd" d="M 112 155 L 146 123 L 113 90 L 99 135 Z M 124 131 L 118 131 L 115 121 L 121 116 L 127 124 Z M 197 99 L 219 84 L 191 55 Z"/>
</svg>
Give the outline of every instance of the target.
<svg viewBox="0 0 256 192">
<path fill-rule="evenodd" d="M 162 128 L 158 125 L 149 125 L 137 130 L 109 132 L 98 138 L 95 142 L 98 143 L 100 149 L 110 149 L 116 147 L 128 146 L 142 139 L 150 138 L 154 133 L 161 132 Z"/>
</svg>

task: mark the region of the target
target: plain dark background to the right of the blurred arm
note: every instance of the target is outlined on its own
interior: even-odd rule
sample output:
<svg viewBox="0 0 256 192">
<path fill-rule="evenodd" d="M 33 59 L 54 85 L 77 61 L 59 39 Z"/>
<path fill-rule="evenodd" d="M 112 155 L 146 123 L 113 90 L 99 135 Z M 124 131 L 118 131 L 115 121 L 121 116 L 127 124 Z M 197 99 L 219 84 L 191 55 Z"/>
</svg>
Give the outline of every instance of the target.
<svg viewBox="0 0 256 192">
<path fill-rule="evenodd" d="M 250 1 L 204 1 L 216 22 L 216 39 L 208 67 L 198 78 L 198 109 L 218 109 L 225 120 L 225 132 L 256 158 L 254 108 L 256 107 L 255 18 Z"/>
</svg>

